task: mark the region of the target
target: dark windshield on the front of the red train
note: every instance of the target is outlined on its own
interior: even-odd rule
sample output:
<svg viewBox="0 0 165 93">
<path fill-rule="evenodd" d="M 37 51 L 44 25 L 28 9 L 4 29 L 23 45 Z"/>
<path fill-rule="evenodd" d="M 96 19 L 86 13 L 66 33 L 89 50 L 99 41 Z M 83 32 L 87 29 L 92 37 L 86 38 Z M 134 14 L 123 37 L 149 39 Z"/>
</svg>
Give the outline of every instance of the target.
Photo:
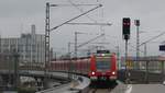
<svg viewBox="0 0 165 93">
<path fill-rule="evenodd" d="M 98 71 L 107 71 L 110 70 L 110 57 L 97 57 L 96 66 Z"/>
</svg>

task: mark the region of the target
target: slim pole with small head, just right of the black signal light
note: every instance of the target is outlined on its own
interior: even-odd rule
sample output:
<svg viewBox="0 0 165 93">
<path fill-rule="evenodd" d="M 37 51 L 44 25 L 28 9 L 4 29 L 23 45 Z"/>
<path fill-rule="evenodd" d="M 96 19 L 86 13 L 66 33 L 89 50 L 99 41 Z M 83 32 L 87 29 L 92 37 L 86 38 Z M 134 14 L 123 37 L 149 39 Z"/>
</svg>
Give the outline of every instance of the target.
<svg viewBox="0 0 165 93">
<path fill-rule="evenodd" d="M 139 66 L 138 59 L 139 59 L 139 57 L 140 57 L 140 31 L 139 31 L 139 27 L 140 27 L 140 20 L 135 20 L 135 21 L 134 21 L 134 24 L 135 24 L 135 26 L 136 26 L 136 65 L 135 65 L 135 67 L 136 67 L 136 69 L 139 69 L 140 66 Z"/>
</svg>

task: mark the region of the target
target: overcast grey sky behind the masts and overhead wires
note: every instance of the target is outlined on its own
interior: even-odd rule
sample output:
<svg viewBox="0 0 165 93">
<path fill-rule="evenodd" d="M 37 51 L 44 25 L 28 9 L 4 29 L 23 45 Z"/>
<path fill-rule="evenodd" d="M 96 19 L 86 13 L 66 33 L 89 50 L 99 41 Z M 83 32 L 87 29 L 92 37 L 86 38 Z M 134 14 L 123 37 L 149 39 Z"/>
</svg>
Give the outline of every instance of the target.
<svg viewBox="0 0 165 93">
<path fill-rule="evenodd" d="M 45 27 L 45 3 L 54 4 L 86 4 L 101 3 L 99 8 L 85 16 L 73 22 L 86 23 L 112 23 L 111 26 L 87 26 L 87 25 L 63 25 L 51 33 L 52 47 L 57 51 L 67 51 L 67 43 L 74 43 L 74 32 L 84 32 L 89 34 L 78 35 L 78 42 L 84 43 L 96 37 L 96 34 L 105 31 L 106 37 L 96 42 L 110 43 L 106 45 L 109 49 L 114 50 L 116 46 L 120 46 L 120 51 L 124 53 L 124 40 L 122 39 L 122 18 L 131 18 L 131 39 L 129 43 L 135 46 L 135 26 L 134 20 L 141 21 L 140 42 L 143 43 L 160 33 L 165 32 L 165 1 L 164 0 L 0 0 L 0 34 L 2 37 L 18 37 L 21 33 L 30 33 L 31 24 L 36 25 L 36 32 L 44 34 Z M 79 7 L 87 11 L 92 7 Z M 56 7 L 51 9 L 51 27 L 54 27 L 81 12 L 75 7 Z M 92 33 L 92 35 L 91 35 Z M 94 34 L 96 33 L 96 34 Z M 147 44 L 148 55 L 161 55 L 158 45 L 165 39 L 165 35 Z M 156 42 L 156 43 L 155 43 Z M 158 43 L 157 43 L 158 42 Z M 84 47 L 86 48 L 86 47 Z M 129 55 L 135 55 L 135 49 L 129 47 Z M 133 49 L 133 50 L 132 50 Z M 143 46 L 141 47 L 143 50 Z M 141 54 L 143 55 L 143 54 Z"/>
</svg>

